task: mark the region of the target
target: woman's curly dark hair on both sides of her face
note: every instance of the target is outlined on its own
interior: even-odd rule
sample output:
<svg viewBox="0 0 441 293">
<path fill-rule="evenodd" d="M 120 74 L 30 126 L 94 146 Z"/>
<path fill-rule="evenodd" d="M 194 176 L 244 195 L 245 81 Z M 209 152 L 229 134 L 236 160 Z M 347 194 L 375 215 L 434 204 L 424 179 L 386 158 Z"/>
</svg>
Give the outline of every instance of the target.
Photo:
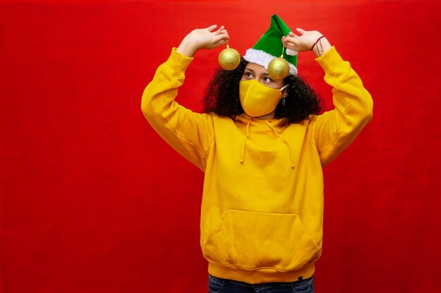
<svg viewBox="0 0 441 293">
<path fill-rule="evenodd" d="M 209 82 L 204 96 L 204 112 L 235 119 L 244 113 L 239 99 L 239 82 L 248 62 L 242 58 L 235 70 L 218 68 Z M 300 77 L 289 75 L 284 80 L 287 86 L 285 106 L 282 100 L 275 108 L 275 118 L 285 118 L 285 124 L 302 124 L 309 115 L 321 112 L 323 101 Z"/>
</svg>

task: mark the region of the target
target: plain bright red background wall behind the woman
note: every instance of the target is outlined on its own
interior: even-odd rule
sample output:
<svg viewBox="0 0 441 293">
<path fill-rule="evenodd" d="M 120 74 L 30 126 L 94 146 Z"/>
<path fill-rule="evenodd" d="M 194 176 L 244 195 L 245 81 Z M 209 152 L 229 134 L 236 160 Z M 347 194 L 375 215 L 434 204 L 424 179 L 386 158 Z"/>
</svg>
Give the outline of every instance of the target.
<svg viewBox="0 0 441 293">
<path fill-rule="evenodd" d="M 441 292 L 439 1 L 61 1 L 0 4 L 0 291 L 206 292 L 203 174 L 144 120 L 172 46 L 225 25 L 244 53 L 278 13 L 320 30 L 374 98 L 325 168 L 316 292 Z M 201 110 L 221 48 L 179 101 Z M 299 72 L 330 104 L 313 54 Z"/>
</svg>

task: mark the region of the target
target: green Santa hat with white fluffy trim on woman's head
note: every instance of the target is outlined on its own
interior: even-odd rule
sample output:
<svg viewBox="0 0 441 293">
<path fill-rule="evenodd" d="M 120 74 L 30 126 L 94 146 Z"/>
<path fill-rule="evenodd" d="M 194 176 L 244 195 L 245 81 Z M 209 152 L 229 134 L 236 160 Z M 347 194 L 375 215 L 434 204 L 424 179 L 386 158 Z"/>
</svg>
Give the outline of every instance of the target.
<svg viewBox="0 0 441 293">
<path fill-rule="evenodd" d="M 256 63 L 268 70 L 268 64 L 274 58 L 282 55 L 290 65 L 290 74 L 297 75 L 297 52 L 289 48 L 284 48 L 282 37 L 287 36 L 291 32 L 285 22 L 278 15 L 271 16 L 271 26 L 265 34 L 254 44 L 253 48 L 249 48 L 245 53 L 244 59 L 249 63 Z"/>
</svg>

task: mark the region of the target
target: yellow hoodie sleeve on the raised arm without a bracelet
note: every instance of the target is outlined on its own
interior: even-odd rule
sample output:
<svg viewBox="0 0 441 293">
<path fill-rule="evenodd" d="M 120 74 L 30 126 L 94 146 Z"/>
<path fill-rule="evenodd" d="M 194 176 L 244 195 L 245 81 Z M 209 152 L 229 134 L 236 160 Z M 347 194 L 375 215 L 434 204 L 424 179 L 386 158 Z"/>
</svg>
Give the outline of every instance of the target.
<svg viewBox="0 0 441 293">
<path fill-rule="evenodd" d="M 173 48 L 142 93 L 141 109 L 154 130 L 182 156 L 204 171 L 202 159 L 213 141 L 211 115 L 192 112 L 175 102 L 185 70 L 192 62 Z"/>
</svg>

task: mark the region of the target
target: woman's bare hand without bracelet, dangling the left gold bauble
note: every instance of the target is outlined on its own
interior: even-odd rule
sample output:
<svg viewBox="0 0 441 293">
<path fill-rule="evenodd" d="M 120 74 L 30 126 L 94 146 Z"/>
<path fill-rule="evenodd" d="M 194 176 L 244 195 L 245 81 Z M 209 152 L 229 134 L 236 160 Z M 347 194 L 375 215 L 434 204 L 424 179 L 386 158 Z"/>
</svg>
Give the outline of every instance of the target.
<svg viewBox="0 0 441 293">
<path fill-rule="evenodd" d="M 214 31 L 216 27 L 217 25 L 211 25 L 205 29 L 193 30 L 182 40 L 176 51 L 187 57 L 193 57 L 201 48 L 216 48 L 227 44 L 230 39 L 227 30 L 221 26 Z"/>
</svg>

